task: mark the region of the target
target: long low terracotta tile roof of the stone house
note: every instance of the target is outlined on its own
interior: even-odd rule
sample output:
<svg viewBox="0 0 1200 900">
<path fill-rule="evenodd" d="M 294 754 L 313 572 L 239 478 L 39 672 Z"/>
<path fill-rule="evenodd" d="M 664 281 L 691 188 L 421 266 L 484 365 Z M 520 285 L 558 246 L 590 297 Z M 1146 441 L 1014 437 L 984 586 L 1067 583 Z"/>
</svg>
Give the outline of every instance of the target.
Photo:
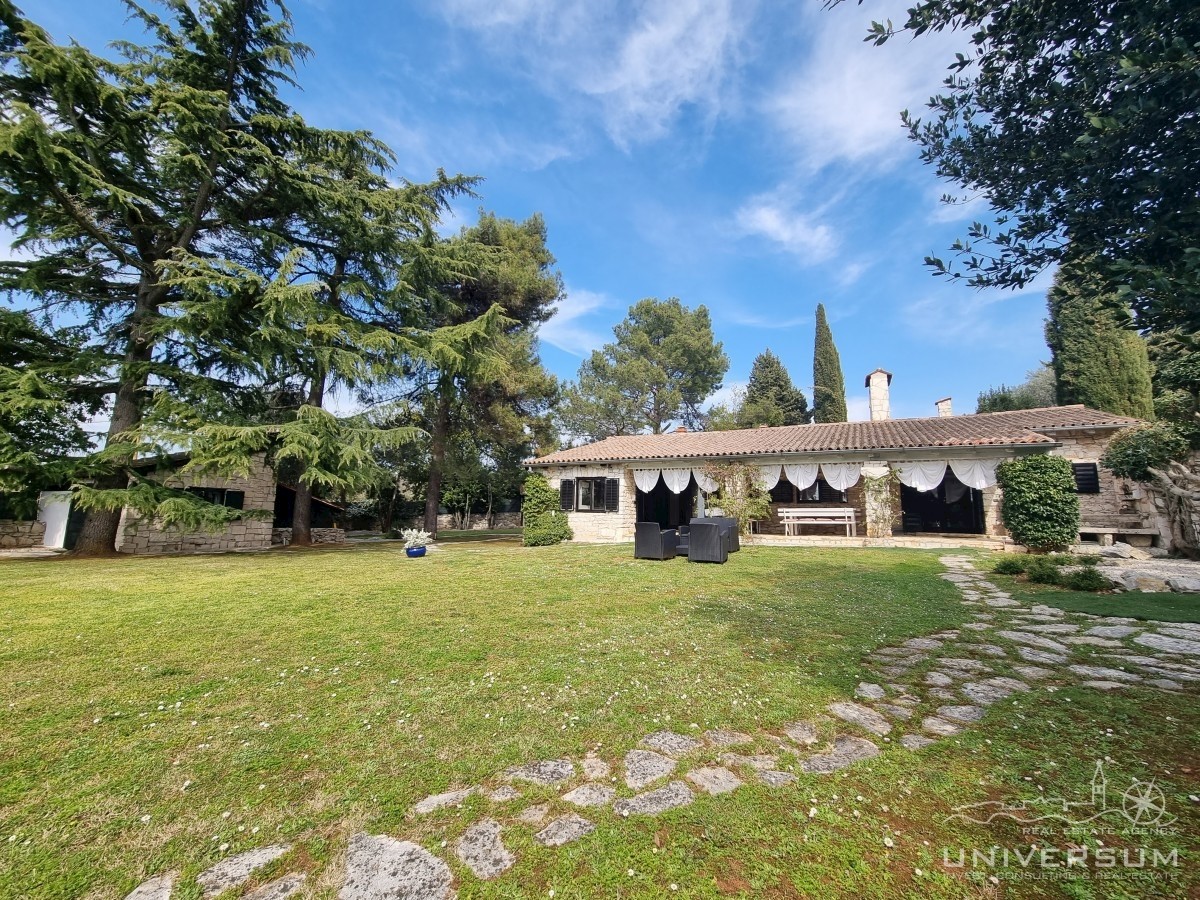
<svg viewBox="0 0 1200 900">
<path fill-rule="evenodd" d="M 1123 428 L 1138 419 L 1084 406 L 1018 409 L 1010 413 L 886 419 L 876 422 L 787 425 L 740 431 L 694 431 L 632 434 L 529 460 L 530 466 L 557 466 L 617 460 L 710 458 L 954 446 L 1054 444 L 1048 434 L 1069 428 Z"/>
</svg>

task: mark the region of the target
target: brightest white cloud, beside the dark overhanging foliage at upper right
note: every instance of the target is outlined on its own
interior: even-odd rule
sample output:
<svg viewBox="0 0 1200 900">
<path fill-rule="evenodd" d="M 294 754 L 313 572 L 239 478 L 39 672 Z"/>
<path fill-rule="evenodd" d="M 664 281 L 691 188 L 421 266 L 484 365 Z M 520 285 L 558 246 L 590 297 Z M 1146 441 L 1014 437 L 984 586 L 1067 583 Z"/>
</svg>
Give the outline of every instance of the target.
<svg viewBox="0 0 1200 900">
<path fill-rule="evenodd" d="M 805 14 L 810 52 L 762 109 L 811 170 L 834 162 L 886 168 L 907 144 L 900 110 L 919 112 L 946 74 L 953 59 L 949 48 L 961 47 L 966 38 L 930 32 L 876 47 L 863 37 L 872 18 L 884 18 L 892 10 L 817 6 Z M 893 18 L 905 18 L 902 7 L 894 12 Z"/>
</svg>

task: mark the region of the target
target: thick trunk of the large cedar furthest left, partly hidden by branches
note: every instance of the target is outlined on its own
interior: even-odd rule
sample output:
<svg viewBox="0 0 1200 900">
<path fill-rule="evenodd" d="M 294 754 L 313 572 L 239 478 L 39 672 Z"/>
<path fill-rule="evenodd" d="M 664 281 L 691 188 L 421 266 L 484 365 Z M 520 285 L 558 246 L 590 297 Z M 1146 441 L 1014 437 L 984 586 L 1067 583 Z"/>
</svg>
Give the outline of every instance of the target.
<svg viewBox="0 0 1200 900">
<path fill-rule="evenodd" d="M 149 319 L 158 311 L 152 292 L 156 286 L 143 281 L 138 299 L 130 316 L 130 338 L 125 349 L 120 384 L 113 401 L 113 418 L 108 422 L 106 446 L 114 438 L 136 428 L 142 421 L 142 392 L 146 386 L 145 364 L 154 355 L 154 341 L 149 335 Z M 132 450 L 132 448 L 131 448 Z M 120 491 L 130 486 L 124 468 L 96 478 L 94 487 L 101 491 Z M 116 552 L 116 532 L 121 523 L 121 510 L 92 509 L 84 516 L 74 554 L 80 557 L 108 556 Z"/>
</svg>

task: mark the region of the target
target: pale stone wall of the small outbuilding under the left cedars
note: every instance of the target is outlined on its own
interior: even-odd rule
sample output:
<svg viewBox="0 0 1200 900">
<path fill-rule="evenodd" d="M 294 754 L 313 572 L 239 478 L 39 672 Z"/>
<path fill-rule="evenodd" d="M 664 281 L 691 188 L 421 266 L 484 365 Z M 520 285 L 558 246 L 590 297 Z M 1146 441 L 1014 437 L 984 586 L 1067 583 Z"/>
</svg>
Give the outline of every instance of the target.
<svg viewBox="0 0 1200 900">
<path fill-rule="evenodd" d="M 242 491 L 242 509 L 263 510 L 263 518 L 230 522 L 220 532 L 181 532 L 162 528 L 133 510 L 121 512 L 116 550 L 121 553 L 218 553 L 233 550 L 266 550 L 271 546 L 275 512 L 275 474 L 263 457 L 254 461 L 248 478 L 191 476 L 173 473 L 163 478 L 170 487 L 220 487 Z"/>
</svg>

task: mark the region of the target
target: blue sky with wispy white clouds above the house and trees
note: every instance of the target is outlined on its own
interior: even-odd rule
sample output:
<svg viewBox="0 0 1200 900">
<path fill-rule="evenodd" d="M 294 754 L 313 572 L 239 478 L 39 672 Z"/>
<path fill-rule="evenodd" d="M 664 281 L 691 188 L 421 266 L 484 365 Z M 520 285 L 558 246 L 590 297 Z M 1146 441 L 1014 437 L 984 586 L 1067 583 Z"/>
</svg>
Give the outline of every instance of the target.
<svg viewBox="0 0 1200 900">
<path fill-rule="evenodd" d="M 118 0 L 26 0 L 56 40 L 134 37 Z M 481 175 L 478 206 L 541 212 L 569 295 L 542 329 L 563 378 L 646 296 L 704 304 L 744 384 L 764 347 L 811 396 L 824 302 L 851 418 L 863 378 L 895 376 L 893 415 L 1015 383 L 1046 359 L 1048 278 L 977 292 L 934 278 L 979 204 L 946 208 L 899 113 L 966 41 L 865 44 L 904 4 L 820 0 L 294 0 L 313 49 L 292 100 L 313 124 L 370 128 L 398 174 Z"/>
</svg>

